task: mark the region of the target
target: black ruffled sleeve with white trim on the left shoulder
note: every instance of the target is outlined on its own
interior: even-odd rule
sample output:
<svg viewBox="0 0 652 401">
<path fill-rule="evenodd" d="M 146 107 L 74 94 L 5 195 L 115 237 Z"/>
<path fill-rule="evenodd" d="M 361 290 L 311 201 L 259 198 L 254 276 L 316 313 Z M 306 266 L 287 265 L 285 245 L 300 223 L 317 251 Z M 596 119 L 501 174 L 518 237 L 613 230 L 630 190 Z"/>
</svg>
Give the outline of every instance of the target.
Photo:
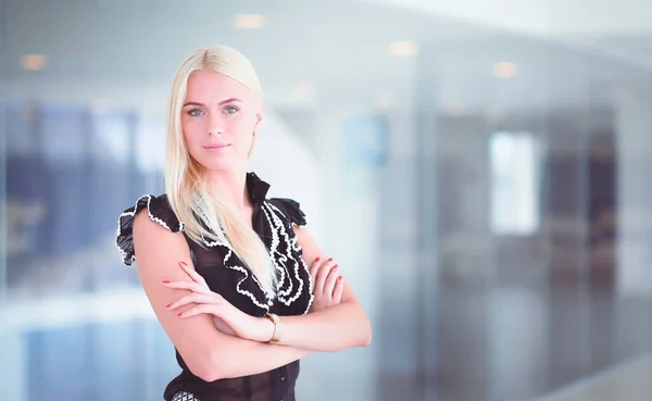
<svg viewBox="0 0 652 401">
<path fill-rule="evenodd" d="M 179 222 L 163 195 L 143 195 L 136 201 L 136 205 L 125 210 L 117 220 L 117 236 L 115 243 L 122 254 L 123 263 L 130 266 L 136 261 L 134 251 L 134 220 L 141 210 L 147 209 L 147 214 L 152 222 L 159 223 L 172 233 L 184 230 L 184 223 Z"/>
</svg>

